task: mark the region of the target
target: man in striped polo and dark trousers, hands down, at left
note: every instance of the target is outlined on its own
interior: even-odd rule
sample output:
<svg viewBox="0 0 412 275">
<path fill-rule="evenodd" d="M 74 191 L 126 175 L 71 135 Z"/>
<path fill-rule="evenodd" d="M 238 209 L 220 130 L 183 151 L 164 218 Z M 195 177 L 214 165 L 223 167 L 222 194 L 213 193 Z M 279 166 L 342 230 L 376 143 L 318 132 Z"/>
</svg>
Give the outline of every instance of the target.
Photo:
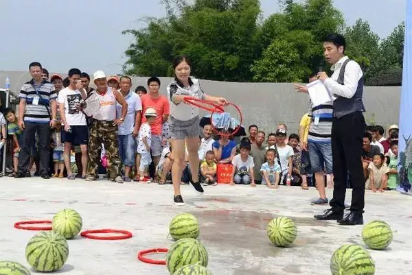
<svg viewBox="0 0 412 275">
<path fill-rule="evenodd" d="M 42 79 L 42 67 L 39 62 L 32 62 L 29 70 L 32 80 L 23 84 L 19 94 L 19 128 L 23 130 L 23 143 L 16 178 L 27 176 L 30 150 L 34 143 L 34 134 L 37 132 L 40 154 L 39 171 L 42 178 L 49 179 L 50 128 L 54 128 L 56 123 L 57 94 L 53 84 Z"/>
</svg>

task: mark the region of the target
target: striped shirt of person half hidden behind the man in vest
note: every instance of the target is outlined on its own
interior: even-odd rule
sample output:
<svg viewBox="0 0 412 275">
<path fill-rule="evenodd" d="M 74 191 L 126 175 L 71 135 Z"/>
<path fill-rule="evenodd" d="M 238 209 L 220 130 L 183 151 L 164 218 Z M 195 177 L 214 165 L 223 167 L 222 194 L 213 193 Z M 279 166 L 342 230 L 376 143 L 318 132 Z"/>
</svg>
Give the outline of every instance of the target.
<svg viewBox="0 0 412 275">
<path fill-rule="evenodd" d="M 310 102 L 312 106 L 312 102 Z M 308 141 L 314 143 L 330 142 L 332 139 L 333 105 L 332 101 L 312 107 Z"/>
</svg>

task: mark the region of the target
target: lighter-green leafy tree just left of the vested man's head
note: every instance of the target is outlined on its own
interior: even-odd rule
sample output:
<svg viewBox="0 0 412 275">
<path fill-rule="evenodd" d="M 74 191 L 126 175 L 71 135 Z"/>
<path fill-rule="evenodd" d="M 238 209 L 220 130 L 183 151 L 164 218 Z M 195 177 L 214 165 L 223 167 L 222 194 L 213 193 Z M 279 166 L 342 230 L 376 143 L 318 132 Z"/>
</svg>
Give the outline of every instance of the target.
<svg viewBox="0 0 412 275">
<path fill-rule="evenodd" d="M 326 67 L 321 49 L 323 38 L 343 28 L 343 16 L 331 0 L 282 3 L 283 12 L 269 16 L 258 32 L 262 53 L 251 67 L 253 81 L 306 81 L 312 71 Z M 279 48 L 286 45 L 290 49 Z M 286 70 L 285 66 L 290 67 Z"/>
</svg>

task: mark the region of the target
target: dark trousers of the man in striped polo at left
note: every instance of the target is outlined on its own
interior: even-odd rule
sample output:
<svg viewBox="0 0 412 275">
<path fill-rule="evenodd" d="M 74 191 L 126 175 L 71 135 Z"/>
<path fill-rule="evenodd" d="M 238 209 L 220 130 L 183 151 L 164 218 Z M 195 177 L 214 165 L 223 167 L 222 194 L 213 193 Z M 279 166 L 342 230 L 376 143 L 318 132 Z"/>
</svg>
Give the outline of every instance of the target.
<svg viewBox="0 0 412 275">
<path fill-rule="evenodd" d="M 23 131 L 23 144 L 19 156 L 19 172 L 26 174 L 30 164 L 30 151 L 35 141 L 34 134 L 38 134 L 38 155 L 40 174 L 49 174 L 50 163 L 50 126 L 49 123 L 25 122 Z"/>
</svg>

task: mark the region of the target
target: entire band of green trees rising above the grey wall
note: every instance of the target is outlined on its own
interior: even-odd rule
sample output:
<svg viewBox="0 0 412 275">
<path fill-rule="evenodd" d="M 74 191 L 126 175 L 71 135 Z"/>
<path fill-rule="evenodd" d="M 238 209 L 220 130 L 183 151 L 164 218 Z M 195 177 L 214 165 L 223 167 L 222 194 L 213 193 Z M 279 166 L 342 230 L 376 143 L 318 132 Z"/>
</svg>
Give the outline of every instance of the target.
<svg viewBox="0 0 412 275">
<path fill-rule="evenodd" d="M 367 84 L 402 70 L 404 23 L 380 41 L 362 19 L 345 27 L 332 0 L 278 2 L 282 10 L 262 20 L 259 0 L 162 0 L 165 17 L 123 32 L 134 37 L 124 73 L 172 76 L 172 59 L 186 54 L 192 74 L 204 79 L 305 82 L 328 68 L 322 41 L 332 32 L 345 34 Z"/>
</svg>

